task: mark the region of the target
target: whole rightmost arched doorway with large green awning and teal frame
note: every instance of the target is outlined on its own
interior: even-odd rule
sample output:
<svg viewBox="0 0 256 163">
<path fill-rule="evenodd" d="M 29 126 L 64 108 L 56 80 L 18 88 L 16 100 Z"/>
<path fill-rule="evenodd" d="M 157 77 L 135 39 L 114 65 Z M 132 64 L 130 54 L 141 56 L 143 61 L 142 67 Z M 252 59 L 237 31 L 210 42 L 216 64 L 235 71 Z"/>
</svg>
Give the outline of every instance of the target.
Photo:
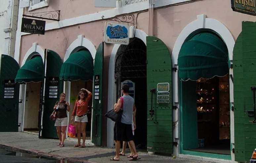
<svg viewBox="0 0 256 163">
<path fill-rule="evenodd" d="M 214 31 L 195 31 L 182 45 L 178 67 L 181 153 L 207 152 L 208 157 L 227 159 L 231 150 L 226 44 Z"/>
</svg>

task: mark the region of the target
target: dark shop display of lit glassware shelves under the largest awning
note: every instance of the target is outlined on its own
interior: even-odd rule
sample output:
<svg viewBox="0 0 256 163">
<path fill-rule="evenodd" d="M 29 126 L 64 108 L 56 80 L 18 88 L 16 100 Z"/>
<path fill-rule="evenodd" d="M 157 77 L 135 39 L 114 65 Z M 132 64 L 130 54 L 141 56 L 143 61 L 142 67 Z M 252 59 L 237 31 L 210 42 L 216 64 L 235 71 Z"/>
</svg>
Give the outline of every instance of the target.
<svg viewBox="0 0 256 163">
<path fill-rule="evenodd" d="M 226 147 L 230 143 L 229 76 L 198 79 L 196 95 L 198 147 Z"/>
</svg>

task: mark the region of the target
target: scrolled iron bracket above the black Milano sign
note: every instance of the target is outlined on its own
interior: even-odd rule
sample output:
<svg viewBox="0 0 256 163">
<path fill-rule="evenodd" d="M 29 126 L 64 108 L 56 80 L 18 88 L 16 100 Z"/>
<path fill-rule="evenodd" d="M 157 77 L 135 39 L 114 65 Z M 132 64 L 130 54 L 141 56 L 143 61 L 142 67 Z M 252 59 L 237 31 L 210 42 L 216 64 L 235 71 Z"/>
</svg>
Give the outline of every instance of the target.
<svg viewBox="0 0 256 163">
<path fill-rule="evenodd" d="M 23 14 L 22 16 L 34 17 L 34 18 L 39 18 L 39 19 L 54 20 L 54 21 L 60 21 L 60 12 L 61 12 L 60 10 L 57 10 L 57 11 L 48 11 L 48 12 Z"/>
</svg>

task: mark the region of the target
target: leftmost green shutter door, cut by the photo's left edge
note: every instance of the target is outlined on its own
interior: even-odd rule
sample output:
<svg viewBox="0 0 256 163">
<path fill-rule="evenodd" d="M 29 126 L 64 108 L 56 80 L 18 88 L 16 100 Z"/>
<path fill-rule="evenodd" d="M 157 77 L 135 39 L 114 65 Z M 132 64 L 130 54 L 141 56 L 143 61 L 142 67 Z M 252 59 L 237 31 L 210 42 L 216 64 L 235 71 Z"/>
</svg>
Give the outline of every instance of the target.
<svg viewBox="0 0 256 163">
<path fill-rule="evenodd" d="M 2 54 L 0 74 L 0 132 L 18 131 L 19 89 L 20 84 L 14 87 L 14 98 L 4 98 L 5 80 L 13 80 L 19 69 L 14 58 Z"/>
</svg>

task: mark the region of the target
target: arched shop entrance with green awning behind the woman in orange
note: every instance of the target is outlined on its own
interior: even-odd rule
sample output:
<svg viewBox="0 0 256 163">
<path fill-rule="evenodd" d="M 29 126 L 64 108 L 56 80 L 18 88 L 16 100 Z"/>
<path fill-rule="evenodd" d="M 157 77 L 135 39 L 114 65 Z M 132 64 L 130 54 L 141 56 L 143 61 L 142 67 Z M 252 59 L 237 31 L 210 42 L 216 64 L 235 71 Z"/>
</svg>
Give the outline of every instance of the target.
<svg viewBox="0 0 256 163">
<path fill-rule="evenodd" d="M 69 112 L 69 123 L 71 124 L 72 111 L 79 95 L 79 91 L 82 88 L 92 92 L 93 89 L 93 58 L 91 53 L 84 47 L 78 47 L 78 50 L 70 54 L 67 60 L 63 63 L 60 79 L 66 81 L 65 90 L 67 96 L 70 97 L 70 112 Z M 92 92 L 93 93 L 93 92 Z M 68 100 L 68 99 L 66 99 Z M 88 104 L 87 113 L 88 123 L 86 125 L 86 137 L 91 139 L 91 119 L 92 119 L 92 100 Z M 77 135 L 76 135 L 77 136 Z"/>
</svg>

